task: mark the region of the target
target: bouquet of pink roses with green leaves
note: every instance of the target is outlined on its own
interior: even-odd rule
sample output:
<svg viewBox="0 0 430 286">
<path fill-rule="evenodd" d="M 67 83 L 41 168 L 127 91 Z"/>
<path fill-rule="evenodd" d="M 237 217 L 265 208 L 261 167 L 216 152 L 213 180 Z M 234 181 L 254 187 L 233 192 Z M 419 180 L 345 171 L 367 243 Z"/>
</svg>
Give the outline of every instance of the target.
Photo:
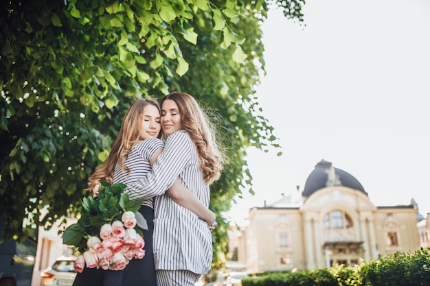
<svg viewBox="0 0 430 286">
<path fill-rule="evenodd" d="M 145 241 L 139 226 L 146 228 L 146 220 L 137 212 L 142 204 L 130 202 L 123 192 L 125 184 L 102 181 L 96 198 L 84 197 L 80 219 L 63 233 L 63 242 L 76 246 L 81 254 L 75 270 L 89 268 L 123 270 L 131 259 L 142 259 Z"/>
</svg>

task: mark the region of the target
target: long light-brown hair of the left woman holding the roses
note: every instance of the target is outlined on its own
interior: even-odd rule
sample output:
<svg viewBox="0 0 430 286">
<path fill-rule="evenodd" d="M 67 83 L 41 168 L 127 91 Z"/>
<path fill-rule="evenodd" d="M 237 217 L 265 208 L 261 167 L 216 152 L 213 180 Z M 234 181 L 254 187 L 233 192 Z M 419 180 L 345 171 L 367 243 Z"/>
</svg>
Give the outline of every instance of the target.
<svg viewBox="0 0 430 286">
<path fill-rule="evenodd" d="M 108 158 L 89 176 L 87 191 L 91 191 L 96 184 L 99 184 L 100 180 L 106 180 L 106 182 L 113 184 L 116 163 L 120 164 L 122 170 L 130 172 L 130 168 L 124 165 L 124 162 L 127 160 L 133 146 L 143 140 L 140 132 L 144 118 L 144 108 L 148 105 L 155 106 L 161 115 L 160 106 L 153 99 L 141 98 L 133 102 L 128 108 L 124 119 L 122 119 L 120 132 L 113 142 Z M 158 134 L 158 138 L 161 138 L 161 132 Z"/>
</svg>

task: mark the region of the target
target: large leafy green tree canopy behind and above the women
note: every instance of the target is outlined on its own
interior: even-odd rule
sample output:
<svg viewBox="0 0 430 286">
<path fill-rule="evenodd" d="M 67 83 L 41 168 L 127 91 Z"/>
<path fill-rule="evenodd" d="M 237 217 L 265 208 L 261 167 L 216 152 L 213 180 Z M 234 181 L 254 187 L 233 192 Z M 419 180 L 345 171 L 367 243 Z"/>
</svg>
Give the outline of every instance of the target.
<svg viewBox="0 0 430 286">
<path fill-rule="evenodd" d="M 0 14 L 0 213 L 4 238 L 76 213 L 135 99 L 185 91 L 210 106 L 227 143 L 212 186 L 221 214 L 251 185 L 248 147 L 276 145 L 255 86 L 268 5 L 302 21 L 304 1 L 16 0 Z M 249 189 L 248 191 L 251 191 Z M 47 215 L 45 214 L 45 209 Z M 219 215 L 218 215 L 219 217 Z M 215 233 L 218 254 L 226 247 Z"/>
</svg>

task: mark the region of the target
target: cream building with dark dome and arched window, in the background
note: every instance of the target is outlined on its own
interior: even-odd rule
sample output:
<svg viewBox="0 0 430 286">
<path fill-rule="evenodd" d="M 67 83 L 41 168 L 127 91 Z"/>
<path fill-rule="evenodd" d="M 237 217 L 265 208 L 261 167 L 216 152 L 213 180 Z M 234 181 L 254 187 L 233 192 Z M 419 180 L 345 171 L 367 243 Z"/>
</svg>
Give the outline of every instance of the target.
<svg viewBox="0 0 430 286">
<path fill-rule="evenodd" d="M 429 216 L 419 235 L 420 217 L 415 202 L 375 206 L 354 176 L 321 160 L 301 193 L 250 209 L 238 257 L 249 272 L 354 265 L 418 250 L 420 236 L 427 246 Z"/>
</svg>

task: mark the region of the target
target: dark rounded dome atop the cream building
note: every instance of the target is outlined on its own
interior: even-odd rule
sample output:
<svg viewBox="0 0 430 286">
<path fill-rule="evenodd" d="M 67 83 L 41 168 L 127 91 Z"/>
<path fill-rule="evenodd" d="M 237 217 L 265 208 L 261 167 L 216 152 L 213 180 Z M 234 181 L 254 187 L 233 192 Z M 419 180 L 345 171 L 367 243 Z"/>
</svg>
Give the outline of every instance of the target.
<svg viewBox="0 0 430 286">
<path fill-rule="evenodd" d="M 304 185 L 303 195 L 309 197 L 315 191 L 330 186 L 350 187 L 367 195 L 359 180 L 348 172 L 333 167 L 332 163 L 326 160 L 319 161 L 315 165 L 315 169 L 309 174 Z"/>
</svg>

